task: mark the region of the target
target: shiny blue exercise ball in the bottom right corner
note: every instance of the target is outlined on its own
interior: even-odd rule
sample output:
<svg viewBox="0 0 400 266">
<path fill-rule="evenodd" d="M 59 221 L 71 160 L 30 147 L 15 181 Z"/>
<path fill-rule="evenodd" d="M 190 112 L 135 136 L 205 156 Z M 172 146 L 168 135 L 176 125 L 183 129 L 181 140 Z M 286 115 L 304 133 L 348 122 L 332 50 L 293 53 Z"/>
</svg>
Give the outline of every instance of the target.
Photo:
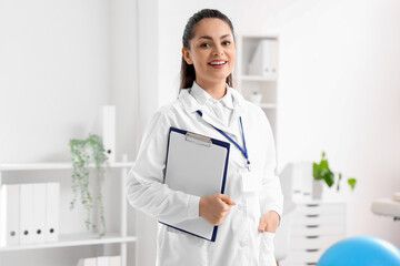
<svg viewBox="0 0 400 266">
<path fill-rule="evenodd" d="M 356 236 L 329 247 L 317 266 L 400 266 L 400 250 L 373 236 Z"/>
</svg>

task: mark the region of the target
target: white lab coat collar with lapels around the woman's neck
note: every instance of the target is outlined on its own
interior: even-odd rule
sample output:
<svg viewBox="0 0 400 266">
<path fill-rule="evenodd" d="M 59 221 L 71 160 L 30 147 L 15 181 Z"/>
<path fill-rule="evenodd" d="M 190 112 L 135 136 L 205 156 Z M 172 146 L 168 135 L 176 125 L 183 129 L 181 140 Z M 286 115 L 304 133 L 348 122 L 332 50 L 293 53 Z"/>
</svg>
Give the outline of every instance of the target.
<svg viewBox="0 0 400 266">
<path fill-rule="evenodd" d="M 193 86 L 198 86 L 198 84 L 196 84 L 196 82 L 193 82 Z M 196 113 L 196 111 L 198 111 L 198 110 L 202 111 L 202 113 L 203 113 L 202 119 L 206 122 L 208 122 L 209 124 L 224 131 L 226 133 L 233 134 L 233 131 L 231 129 L 223 125 L 219 120 L 217 120 L 217 119 L 208 115 L 206 112 L 203 112 L 203 104 L 200 104 L 200 103 L 202 103 L 204 100 L 200 100 L 200 101 L 196 100 L 196 98 L 190 94 L 190 91 L 192 90 L 192 88 L 182 89 L 180 94 L 179 94 L 178 99 L 182 103 L 183 109 L 188 113 Z M 234 90 L 234 89 L 232 89 L 230 86 L 228 86 L 228 90 L 232 94 L 233 113 L 232 113 L 232 116 L 231 116 L 231 121 L 232 120 L 239 120 L 239 116 L 242 116 L 246 113 L 246 109 L 244 109 L 246 100 L 243 99 L 243 96 L 237 90 Z M 203 103 L 206 103 L 206 101 Z M 231 122 L 229 124 L 231 124 Z"/>
</svg>

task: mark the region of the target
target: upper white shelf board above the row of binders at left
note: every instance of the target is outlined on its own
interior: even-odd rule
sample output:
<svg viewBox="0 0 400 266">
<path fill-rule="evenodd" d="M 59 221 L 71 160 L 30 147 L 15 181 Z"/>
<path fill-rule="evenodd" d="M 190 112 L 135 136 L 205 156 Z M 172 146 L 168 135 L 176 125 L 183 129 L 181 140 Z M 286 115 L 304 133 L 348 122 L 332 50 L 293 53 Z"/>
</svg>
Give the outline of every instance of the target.
<svg viewBox="0 0 400 266">
<path fill-rule="evenodd" d="M 110 168 L 132 167 L 133 162 L 110 163 Z M 94 167 L 94 164 L 90 164 Z M 72 163 L 10 163 L 0 164 L 0 171 L 31 171 L 31 170 L 71 170 Z"/>
</svg>

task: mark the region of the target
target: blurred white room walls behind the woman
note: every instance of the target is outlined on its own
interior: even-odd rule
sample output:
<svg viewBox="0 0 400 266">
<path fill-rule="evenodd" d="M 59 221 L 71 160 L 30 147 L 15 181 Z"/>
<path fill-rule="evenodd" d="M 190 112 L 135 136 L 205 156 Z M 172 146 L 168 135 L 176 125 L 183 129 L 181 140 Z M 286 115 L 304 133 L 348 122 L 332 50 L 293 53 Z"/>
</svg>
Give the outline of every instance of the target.
<svg viewBox="0 0 400 266">
<path fill-rule="evenodd" d="M 397 0 L 0 0 L 0 163 L 70 161 L 69 140 L 88 135 L 102 105 L 117 110 L 117 161 L 134 161 L 151 114 L 178 95 L 183 28 L 203 8 L 226 13 L 238 37 L 278 37 L 277 173 L 327 152 L 358 180 L 347 236 L 400 247 L 400 222 L 371 212 L 400 191 Z M 128 265 L 153 265 L 157 222 L 129 217 Z"/>
</svg>

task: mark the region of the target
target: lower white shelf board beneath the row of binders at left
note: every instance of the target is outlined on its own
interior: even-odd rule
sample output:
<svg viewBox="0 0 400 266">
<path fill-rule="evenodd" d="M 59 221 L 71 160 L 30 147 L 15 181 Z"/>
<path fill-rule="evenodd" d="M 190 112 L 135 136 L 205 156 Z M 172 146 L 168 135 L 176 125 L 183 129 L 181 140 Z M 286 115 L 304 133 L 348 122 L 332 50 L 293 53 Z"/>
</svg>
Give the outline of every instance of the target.
<svg viewBox="0 0 400 266">
<path fill-rule="evenodd" d="M 27 249 L 39 249 L 39 248 L 52 248 L 52 247 L 72 247 L 72 246 L 89 246 L 89 245 L 102 245 L 113 243 L 129 243 L 137 242 L 136 236 L 121 237 L 119 234 L 108 234 L 102 238 L 98 238 L 98 234 L 68 234 L 60 235 L 60 239 L 53 243 L 38 243 L 30 245 L 16 245 L 16 246 L 2 246 L 0 252 L 17 252 Z"/>
</svg>

